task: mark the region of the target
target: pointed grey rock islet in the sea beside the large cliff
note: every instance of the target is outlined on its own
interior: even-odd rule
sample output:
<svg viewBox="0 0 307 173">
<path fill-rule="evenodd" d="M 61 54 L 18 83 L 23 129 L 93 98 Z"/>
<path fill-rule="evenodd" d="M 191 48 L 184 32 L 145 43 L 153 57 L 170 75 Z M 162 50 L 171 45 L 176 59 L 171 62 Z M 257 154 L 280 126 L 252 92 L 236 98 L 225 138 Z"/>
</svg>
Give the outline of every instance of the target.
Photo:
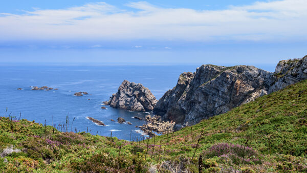
<svg viewBox="0 0 307 173">
<path fill-rule="evenodd" d="M 142 84 L 124 80 L 118 92 L 113 94 L 108 102 L 103 103 L 129 111 L 152 111 L 157 101 L 150 90 Z"/>
</svg>

